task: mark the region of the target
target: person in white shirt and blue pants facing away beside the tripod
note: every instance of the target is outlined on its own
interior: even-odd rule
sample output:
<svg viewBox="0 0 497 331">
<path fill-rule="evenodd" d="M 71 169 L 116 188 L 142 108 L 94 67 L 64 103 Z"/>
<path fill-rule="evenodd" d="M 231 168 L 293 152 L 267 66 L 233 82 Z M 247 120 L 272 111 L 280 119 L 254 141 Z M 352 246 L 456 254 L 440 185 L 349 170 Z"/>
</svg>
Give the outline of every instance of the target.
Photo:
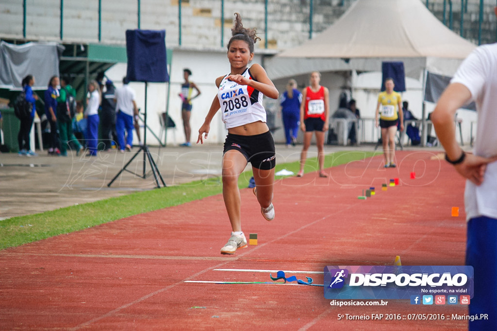
<svg viewBox="0 0 497 331">
<path fill-rule="evenodd" d="M 116 132 L 117 143 L 121 152 L 131 151 L 133 146 L 133 118 L 138 116 L 138 107 L 136 106 L 135 91 L 128 85 L 127 77 L 123 78 L 123 86 L 116 88 Z M 126 132 L 125 132 L 126 131 Z M 125 134 L 126 141 L 124 139 Z"/>
</svg>

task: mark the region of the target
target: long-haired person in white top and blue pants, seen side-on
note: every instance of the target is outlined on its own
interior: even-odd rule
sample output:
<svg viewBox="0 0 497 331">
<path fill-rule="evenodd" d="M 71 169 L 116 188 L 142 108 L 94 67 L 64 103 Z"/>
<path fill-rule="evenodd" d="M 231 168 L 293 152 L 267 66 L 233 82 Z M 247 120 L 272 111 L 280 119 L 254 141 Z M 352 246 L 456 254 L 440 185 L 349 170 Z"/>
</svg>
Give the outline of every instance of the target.
<svg viewBox="0 0 497 331">
<path fill-rule="evenodd" d="M 88 84 L 89 98 L 86 100 L 86 110 L 84 111 L 84 118 L 86 118 L 86 137 L 88 145 L 87 156 L 96 156 L 97 142 L 98 142 L 98 107 L 100 106 L 100 87 L 96 80 L 90 81 Z"/>
</svg>

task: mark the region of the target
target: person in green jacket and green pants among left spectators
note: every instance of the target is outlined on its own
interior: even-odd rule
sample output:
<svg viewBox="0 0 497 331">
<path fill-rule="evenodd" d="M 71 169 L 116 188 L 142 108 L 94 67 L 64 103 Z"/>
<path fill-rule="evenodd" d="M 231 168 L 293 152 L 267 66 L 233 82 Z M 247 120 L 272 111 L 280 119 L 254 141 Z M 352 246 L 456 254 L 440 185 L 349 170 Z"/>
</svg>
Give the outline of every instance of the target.
<svg viewBox="0 0 497 331">
<path fill-rule="evenodd" d="M 57 98 L 57 119 L 59 123 L 59 135 L 61 139 L 61 156 L 67 156 L 69 142 L 74 144 L 76 155 L 79 156 L 83 146 L 73 133 L 71 111 L 72 100 L 76 100 L 76 90 L 69 84 L 68 77 L 61 78 L 60 96 Z"/>
</svg>

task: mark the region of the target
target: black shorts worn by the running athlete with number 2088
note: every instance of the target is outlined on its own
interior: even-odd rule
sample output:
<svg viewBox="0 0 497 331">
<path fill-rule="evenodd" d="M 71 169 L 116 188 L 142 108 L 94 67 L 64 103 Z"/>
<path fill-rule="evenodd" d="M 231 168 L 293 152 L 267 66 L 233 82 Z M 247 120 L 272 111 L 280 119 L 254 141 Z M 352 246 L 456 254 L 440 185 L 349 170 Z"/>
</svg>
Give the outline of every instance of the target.
<svg viewBox="0 0 497 331">
<path fill-rule="evenodd" d="M 224 153 L 231 149 L 240 151 L 254 168 L 271 170 L 276 165 L 274 140 L 269 131 L 256 135 L 228 133 Z"/>
</svg>

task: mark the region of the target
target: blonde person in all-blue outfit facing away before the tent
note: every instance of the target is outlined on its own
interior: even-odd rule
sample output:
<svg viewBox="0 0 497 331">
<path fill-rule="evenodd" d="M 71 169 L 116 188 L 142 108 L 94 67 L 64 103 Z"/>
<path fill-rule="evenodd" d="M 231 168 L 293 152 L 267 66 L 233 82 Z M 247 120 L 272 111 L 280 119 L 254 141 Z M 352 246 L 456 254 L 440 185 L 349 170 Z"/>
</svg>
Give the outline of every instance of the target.
<svg viewBox="0 0 497 331">
<path fill-rule="evenodd" d="M 290 79 L 286 85 L 286 91 L 281 96 L 281 118 L 285 129 L 286 146 L 295 146 L 297 134 L 299 133 L 300 104 L 302 93 L 297 89 L 295 79 Z"/>
</svg>

